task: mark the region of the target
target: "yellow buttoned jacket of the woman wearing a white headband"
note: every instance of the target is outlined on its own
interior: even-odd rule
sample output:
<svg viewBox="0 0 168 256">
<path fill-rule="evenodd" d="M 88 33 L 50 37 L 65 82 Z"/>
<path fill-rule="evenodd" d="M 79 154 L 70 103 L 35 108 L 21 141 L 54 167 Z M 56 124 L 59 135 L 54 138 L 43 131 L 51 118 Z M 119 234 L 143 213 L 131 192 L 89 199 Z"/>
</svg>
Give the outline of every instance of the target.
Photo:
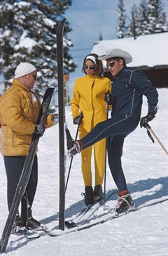
<svg viewBox="0 0 168 256">
<path fill-rule="evenodd" d="M 80 132 L 90 132 L 98 123 L 106 120 L 106 103 L 104 94 L 111 91 L 111 81 L 98 75 L 79 77 L 73 87 L 71 112 L 73 119 L 83 111 L 83 122 Z"/>
</svg>

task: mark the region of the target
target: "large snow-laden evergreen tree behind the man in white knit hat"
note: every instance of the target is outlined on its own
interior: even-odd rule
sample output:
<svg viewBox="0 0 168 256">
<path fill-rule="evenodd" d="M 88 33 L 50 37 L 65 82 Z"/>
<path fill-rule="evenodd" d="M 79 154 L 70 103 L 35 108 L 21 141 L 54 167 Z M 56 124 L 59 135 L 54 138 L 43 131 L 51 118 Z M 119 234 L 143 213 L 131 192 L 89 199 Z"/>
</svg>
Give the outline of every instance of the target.
<svg viewBox="0 0 168 256">
<path fill-rule="evenodd" d="M 57 87 L 57 26 L 71 0 L 1 1 L 0 3 L 0 68 L 5 87 L 10 85 L 15 67 L 22 62 L 36 66 L 36 94 L 43 95 L 48 86 Z M 72 72 L 76 65 L 69 55 L 71 31 L 66 22 L 64 30 L 64 68 Z"/>
</svg>

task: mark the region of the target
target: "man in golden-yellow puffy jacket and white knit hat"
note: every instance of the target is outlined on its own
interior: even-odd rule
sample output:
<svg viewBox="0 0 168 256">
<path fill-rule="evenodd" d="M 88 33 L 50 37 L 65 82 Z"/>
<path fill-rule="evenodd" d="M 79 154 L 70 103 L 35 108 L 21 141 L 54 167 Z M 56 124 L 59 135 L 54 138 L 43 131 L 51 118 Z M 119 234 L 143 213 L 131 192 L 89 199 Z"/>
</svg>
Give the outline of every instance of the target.
<svg viewBox="0 0 168 256">
<path fill-rule="evenodd" d="M 41 103 L 31 91 L 36 76 L 37 70 L 34 65 L 20 63 L 15 70 L 13 84 L 0 98 L 1 154 L 6 168 L 8 210 L 10 210 L 13 202 L 32 135 L 42 136 L 45 127 L 51 127 L 58 121 L 58 115 L 53 114 L 48 115 L 45 125 L 36 125 L 41 109 Z M 21 215 L 18 213 L 15 217 L 13 233 L 25 232 L 26 224 L 31 229 L 41 228 L 41 223 L 34 219 L 31 214 L 37 179 L 38 162 L 37 155 L 35 155 L 31 176 L 26 188 L 30 209 L 27 212 L 27 202 L 25 198 L 22 198 Z"/>
</svg>

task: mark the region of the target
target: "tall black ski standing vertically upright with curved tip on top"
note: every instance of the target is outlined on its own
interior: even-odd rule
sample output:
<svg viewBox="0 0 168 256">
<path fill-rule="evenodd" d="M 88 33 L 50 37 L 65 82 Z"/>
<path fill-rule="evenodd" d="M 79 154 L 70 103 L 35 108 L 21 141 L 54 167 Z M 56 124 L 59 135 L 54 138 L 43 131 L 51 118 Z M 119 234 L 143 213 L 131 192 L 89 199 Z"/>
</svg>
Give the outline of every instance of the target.
<svg viewBox="0 0 168 256">
<path fill-rule="evenodd" d="M 63 69 L 63 33 L 66 19 L 57 28 L 57 81 L 59 103 L 59 229 L 64 230 L 65 215 L 65 153 L 64 153 L 64 69 Z"/>
</svg>

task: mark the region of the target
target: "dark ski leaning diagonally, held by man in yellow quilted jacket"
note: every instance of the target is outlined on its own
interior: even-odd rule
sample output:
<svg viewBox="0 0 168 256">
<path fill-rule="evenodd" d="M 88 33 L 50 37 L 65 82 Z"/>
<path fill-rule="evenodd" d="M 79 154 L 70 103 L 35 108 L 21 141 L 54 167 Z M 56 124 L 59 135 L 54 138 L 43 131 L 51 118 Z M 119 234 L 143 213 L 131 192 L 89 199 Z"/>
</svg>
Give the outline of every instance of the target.
<svg viewBox="0 0 168 256">
<path fill-rule="evenodd" d="M 45 122 L 45 119 L 47 117 L 48 114 L 48 108 L 50 105 L 50 100 L 52 98 L 52 94 L 53 94 L 54 88 L 48 88 L 45 91 L 44 97 L 43 97 L 43 102 L 41 104 L 41 110 L 38 116 L 38 121 L 37 124 L 43 124 Z M 18 182 L 18 186 L 16 188 L 15 191 L 15 196 L 13 198 L 13 203 L 10 207 L 10 211 L 8 214 L 8 218 L 6 220 L 6 224 L 4 226 L 3 229 L 3 233 L 1 236 L 1 241 L 0 241 L 0 250 L 1 253 L 5 252 L 6 250 L 6 246 L 8 244 L 8 238 L 10 236 L 10 232 L 12 230 L 13 227 L 13 222 L 15 221 L 15 216 L 18 212 L 18 207 L 20 205 L 20 201 L 22 199 L 22 195 L 25 191 L 25 188 L 27 186 L 27 182 L 29 181 L 29 177 L 31 174 L 31 167 L 34 161 L 34 155 L 36 153 L 36 147 L 38 145 L 38 141 L 39 141 L 39 136 L 37 136 L 36 134 L 33 135 L 32 140 L 31 140 L 31 144 L 29 147 L 29 152 L 27 154 L 27 157 L 25 159 L 25 163 L 22 169 L 22 174 L 20 176 L 20 180 Z"/>
</svg>

